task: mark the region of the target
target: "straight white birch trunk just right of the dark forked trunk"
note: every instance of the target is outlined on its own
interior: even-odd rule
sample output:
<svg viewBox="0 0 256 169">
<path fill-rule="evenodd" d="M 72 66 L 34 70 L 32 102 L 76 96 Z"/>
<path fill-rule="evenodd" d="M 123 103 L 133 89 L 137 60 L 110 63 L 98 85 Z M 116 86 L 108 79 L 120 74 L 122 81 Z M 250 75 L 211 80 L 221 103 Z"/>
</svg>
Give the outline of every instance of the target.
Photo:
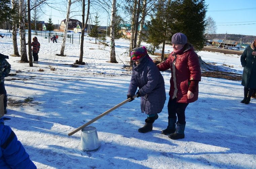
<svg viewBox="0 0 256 169">
<path fill-rule="evenodd" d="M 116 0 L 112 1 L 111 27 L 110 27 L 110 62 L 117 63 L 115 54 L 115 16 L 116 16 Z"/>
</svg>

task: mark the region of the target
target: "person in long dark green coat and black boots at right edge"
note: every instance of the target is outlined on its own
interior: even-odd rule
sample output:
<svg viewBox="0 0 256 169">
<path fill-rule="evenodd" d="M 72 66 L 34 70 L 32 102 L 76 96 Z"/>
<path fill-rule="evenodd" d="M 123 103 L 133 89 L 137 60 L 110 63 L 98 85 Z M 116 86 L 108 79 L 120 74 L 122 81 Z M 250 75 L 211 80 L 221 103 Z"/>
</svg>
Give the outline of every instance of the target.
<svg viewBox="0 0 256 169">
<path fill-rule="evenodd" d="M 251 96 L 256 90 L 256 39 L 241 55 L 241 64 L 244 68 L 242 85 L 244 86 L 244 99 L 241 103 L 249 104 Z"/>
</svg>

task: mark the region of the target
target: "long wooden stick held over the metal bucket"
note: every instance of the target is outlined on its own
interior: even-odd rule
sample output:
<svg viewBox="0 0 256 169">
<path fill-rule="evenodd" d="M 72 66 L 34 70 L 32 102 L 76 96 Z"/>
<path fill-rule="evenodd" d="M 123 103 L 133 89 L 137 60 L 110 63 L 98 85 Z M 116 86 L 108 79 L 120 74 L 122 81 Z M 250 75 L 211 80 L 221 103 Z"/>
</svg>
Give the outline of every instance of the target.
<svg viewBox="0 0 256 169">
<path fill-rule="evenodd" d="M 134 95 L 133 98 L 135 99 L 137 96 L 138 96 L 138 94 Z M 131 100 L 132 100 L 132 99 L 129 98 L 129 99 L 126 99 L 125 101 L 119 103 L 118 105 L 115 105 L 114 107 L 112 107 L 111 109 L 105 111 L 104 113 L 100 114 L 99 116 L 95 117 L 95 118 L 92 119 L 91 121 L 88 121 L 87 123 L 81 125 L 81 126 L 78 127 L 77 129 L 71 131 L 70 133 L 68 133 L 68 135 L 70 136 L 70 135 L 75 134 L 77 131 L 83 129 L 84 127 L 86 127 L 86 126 L 89 125 L 89 124 L 92 124 L 92 123 L 95 122 L 96 120 L 102 118 L 103 116 L 107 115 L 107 114 L 110 113 L 111 111 L 117 109 L 118 107 L 124 105 L 125 103 L 127 103 L 127 102 L 129 102 L 129 101 L 131 101 Z"/>
</svg>

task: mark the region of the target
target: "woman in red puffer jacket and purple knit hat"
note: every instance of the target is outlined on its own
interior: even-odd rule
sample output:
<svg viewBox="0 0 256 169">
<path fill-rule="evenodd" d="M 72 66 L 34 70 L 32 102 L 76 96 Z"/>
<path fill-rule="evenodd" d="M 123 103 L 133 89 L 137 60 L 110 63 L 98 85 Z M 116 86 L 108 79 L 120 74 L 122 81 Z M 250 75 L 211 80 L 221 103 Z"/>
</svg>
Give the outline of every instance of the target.
<svg viewBox="0 0 256 169">
<path fill-rule="evenodd" d="M 162 134 L 169 135 L 171 139 L 180 139 L 185 137 L 185 109 L 189 103 L 198 99 L 201 69 L 198 55 L 194 52 L 193 46 L 187 43 L 186 35 L 174 34 L 172 44 L 173 52 L 166 61 L 157 65 L 160 71 L 171 69 L 172 72 L 168 102 L 168 126 L 162 130 Z"/>
</svg>

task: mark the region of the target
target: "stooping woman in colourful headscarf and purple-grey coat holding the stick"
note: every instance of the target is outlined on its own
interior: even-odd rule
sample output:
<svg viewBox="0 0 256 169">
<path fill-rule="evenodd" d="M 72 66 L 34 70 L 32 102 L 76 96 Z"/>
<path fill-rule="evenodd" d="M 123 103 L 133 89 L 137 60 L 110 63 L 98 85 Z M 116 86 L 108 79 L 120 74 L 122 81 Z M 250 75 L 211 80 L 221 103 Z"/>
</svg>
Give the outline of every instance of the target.
<svg viewBox="0 0 256 169">
<path fill-rule="evenodd" d="M 164 80 L 159 69 L 147 54 L 147 49 L 143 47 L 134 48 L 131 51 L 133 60 L 133 74 L 127 92 L 127 99 L 131 98 L 139 88 L 137 97 L 141 98 L 141 112 L 147 114 L 145 125 L 138 131 L 146 133 L 152 131 L 153 123 L 158 118 L 157 113 L 163 109 L 166 101 Z"/>
</svg>

